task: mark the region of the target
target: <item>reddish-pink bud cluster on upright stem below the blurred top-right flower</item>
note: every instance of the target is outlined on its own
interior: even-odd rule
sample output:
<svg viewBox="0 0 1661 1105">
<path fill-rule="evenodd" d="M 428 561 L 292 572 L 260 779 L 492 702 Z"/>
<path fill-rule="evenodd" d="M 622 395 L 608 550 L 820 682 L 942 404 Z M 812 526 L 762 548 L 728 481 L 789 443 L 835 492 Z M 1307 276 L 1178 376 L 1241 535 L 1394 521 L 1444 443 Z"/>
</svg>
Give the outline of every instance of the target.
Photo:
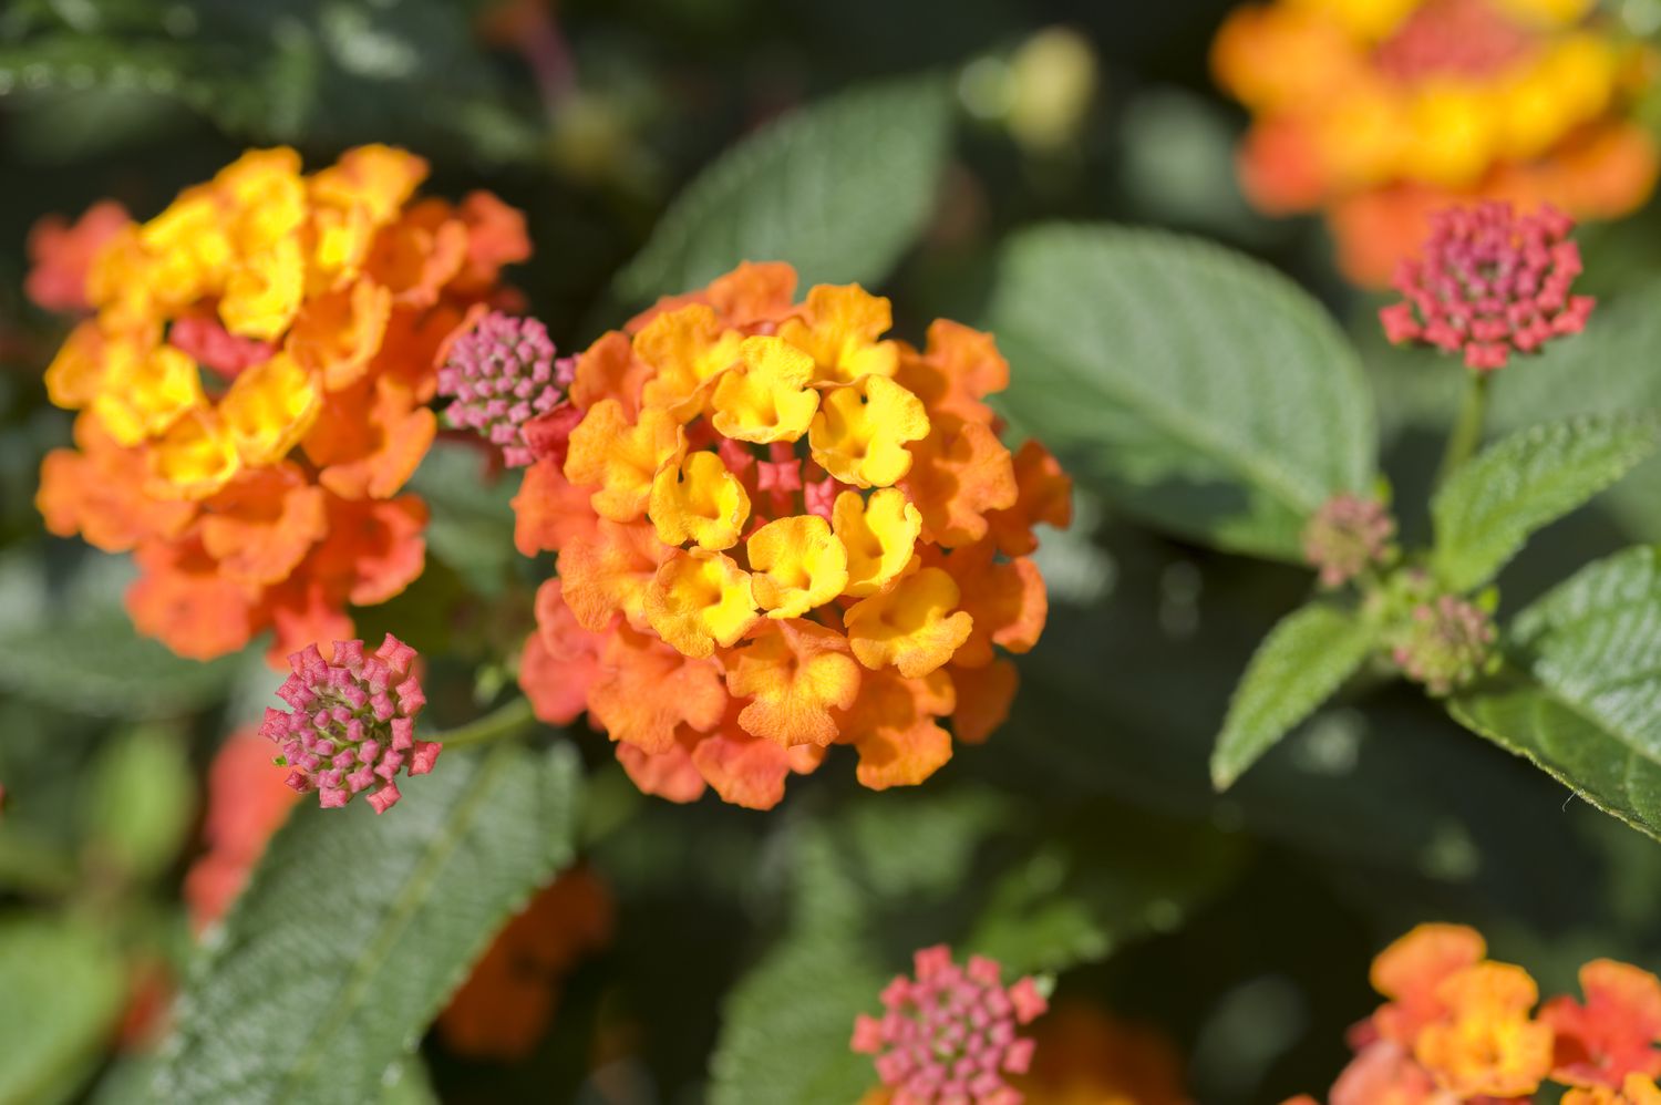
<svg viewBox="0 0 1661 1105">
<path fill-rule="evenodd" d="M 1550 204 L 1523 216 L 1508 203 L 1430 216 L 1423 256 L 1404 259 L 1392 281 L 1405 302 L 1379 311 L 1385 337 L 1463 351 L 1467 367 L 1492 372 L 1512 352 L 1578 334 L 1595 301 L 1570 296 L 1581 273 L 1571 229 L 1575 221 Z"/>
</svg>

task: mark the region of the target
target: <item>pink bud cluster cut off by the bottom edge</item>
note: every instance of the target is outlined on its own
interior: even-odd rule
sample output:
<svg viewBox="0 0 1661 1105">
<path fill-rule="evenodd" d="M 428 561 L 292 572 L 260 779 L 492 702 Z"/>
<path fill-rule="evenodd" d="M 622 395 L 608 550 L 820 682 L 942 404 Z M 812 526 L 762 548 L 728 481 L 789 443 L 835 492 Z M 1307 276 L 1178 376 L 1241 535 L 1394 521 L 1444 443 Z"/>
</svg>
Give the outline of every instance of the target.
<svg viewBox="0 0 1661 1105">
<path fill-rule="evenodd" d="M 1033 1042 L 1015 1029 L 1048 1009 L 1031 977 L 1005 987 L 997 960 L 963 969 L 943 944 L 917 952 L 915 969 L 884 987 L 882 1017 L 854 1022 L 854 1050 L 875 1055 L 894 1105 L 1020 1105 L 1003 1075 L 1026 1072 Z"/>
</svg>

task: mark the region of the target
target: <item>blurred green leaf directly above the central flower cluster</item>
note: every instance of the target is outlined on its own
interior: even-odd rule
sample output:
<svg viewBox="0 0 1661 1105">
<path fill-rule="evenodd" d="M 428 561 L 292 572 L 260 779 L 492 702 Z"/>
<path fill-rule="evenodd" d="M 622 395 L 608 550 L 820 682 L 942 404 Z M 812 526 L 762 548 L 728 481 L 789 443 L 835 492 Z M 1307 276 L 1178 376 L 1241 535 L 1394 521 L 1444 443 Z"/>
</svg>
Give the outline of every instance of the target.
<svg viewBox="0 0 1661 1105">
<path fill-rule="evenodd" d="M 698 176 L 618 273 L 628 302 L 789 261 L 804 284 L 880 282 L 933 211 L 950 138 L 933 76 L 870 85 L 766 126 Z"/>
</svg>

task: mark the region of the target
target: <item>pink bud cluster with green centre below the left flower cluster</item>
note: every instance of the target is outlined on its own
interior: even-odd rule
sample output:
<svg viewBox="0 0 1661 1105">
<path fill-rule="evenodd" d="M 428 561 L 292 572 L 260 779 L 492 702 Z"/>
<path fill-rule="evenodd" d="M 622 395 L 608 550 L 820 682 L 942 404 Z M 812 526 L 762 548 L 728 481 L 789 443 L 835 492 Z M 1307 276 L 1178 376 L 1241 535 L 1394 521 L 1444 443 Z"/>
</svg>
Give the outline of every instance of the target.
<svg viewBox="0 0 1661 1105">
<path fill-rule="evenodd" d="M 259 726 L 282 749 L 277 764 L 292 768 L 287 784 L 301 794 L 317 791 L 324 808 L 369 791 L 379 814 L 399 801 L 399 769 L 432 771 L 442 746 L 415 739 L 415 715 L 427 696 L 410 671 L 414 661 L 415 650 L 390 633 L 370 656 L 364 641 L 336 641 L 332 663 L 324 663 L 316 645 L 292 653 L 294 675 L 277 698 L 294 713 L 269 708 Z"/>
</svg>

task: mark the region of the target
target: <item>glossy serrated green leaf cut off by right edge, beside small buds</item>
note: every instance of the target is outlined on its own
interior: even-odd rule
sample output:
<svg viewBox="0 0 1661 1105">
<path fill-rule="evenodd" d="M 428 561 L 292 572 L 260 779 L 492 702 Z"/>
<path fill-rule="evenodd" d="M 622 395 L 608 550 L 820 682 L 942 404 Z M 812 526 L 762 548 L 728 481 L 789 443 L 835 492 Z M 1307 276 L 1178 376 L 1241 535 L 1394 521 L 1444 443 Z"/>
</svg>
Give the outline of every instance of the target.
<svg viewBox="0 0 1661 1105">
<path fill-rule="evenodd" d="M 1520 675 L 1453 716 L 1661 839 L 1661 550 L 1578 572 L 1516 616 L 1507 655 Z"/>
</svg>

